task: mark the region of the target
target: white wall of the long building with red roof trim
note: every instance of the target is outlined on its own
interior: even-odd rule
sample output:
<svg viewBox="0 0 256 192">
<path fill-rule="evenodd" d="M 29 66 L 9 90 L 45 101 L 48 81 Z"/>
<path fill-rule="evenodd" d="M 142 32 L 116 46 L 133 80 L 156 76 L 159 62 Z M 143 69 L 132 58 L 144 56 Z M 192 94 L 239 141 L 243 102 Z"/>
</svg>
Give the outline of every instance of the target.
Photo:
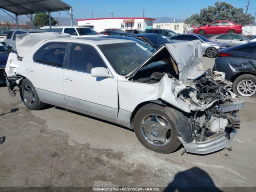
<svg viewBox="0 0 256 192">
<path fill-rule="evenodd" d="M 132 24 L 125 23 L 123 22 L 124 20 L 129 20 L 129 18 L 78 20 L 78 26 L 92 25 L 94 26 L 94 30 L 96 32 L 101 32 L 101 31 L 104 31 L 104 29 L 108 29 L 108 28 L 118 28 L 122 30 L 127 30 L 127 29 L 145 30 L 147 26 L 153 25 L 153 20 L 149 20 L 149 19 L 134 19 L 134 22 L 132 22 Z M 121 23 L 124 23 L 124 28 L 121 28 Z M 138 28 L 138 23 L 141 23 L 141 28 Z"/>
</svg>

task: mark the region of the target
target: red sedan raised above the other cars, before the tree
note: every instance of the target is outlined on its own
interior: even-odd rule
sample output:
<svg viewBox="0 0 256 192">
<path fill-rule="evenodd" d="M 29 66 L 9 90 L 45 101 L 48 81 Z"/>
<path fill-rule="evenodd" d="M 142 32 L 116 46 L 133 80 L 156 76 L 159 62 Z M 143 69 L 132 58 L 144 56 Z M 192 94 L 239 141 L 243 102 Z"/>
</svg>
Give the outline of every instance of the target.
<svg viewBox="0 0 256 192">
<path fill-rule="evenodd" d="M 194 33 L 205 34 L 222 34 L 222 33 L 242 33 L 242 25 L 237 25 L 228 20 L 218 20 L 209 23 L 206 26 L 199 26 L 194 29 Z"/>
</svg>

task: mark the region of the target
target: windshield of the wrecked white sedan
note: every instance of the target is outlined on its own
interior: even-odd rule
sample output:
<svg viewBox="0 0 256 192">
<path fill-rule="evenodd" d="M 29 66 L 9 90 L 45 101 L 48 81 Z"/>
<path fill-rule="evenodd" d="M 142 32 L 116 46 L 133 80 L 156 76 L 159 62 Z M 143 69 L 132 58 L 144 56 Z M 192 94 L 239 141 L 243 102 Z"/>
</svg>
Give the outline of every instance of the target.
<svg viewBox="0 0 256 192">
<path fill-rule="evenodd" d="M 120 75 L 127 75 L 152 55 L 138 43 L 114 43 L 98 45 L 108 62 Z"/>
</svg>

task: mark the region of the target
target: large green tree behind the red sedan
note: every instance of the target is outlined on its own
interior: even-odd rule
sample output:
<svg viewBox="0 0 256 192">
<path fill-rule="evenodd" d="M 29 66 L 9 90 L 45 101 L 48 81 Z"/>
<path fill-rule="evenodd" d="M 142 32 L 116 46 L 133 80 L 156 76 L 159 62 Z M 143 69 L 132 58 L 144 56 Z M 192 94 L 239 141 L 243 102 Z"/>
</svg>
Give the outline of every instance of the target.
<svg viewBox="0 0 256 192">
<path fill-rule="evenodd" d="M 204 25 L 215 20 L 230 20 L 236 24 L 252 24 L 254 17 L 243 11 L 243 8 L 236 8 L 226 2 L 215 2 L 215 6 L 201 9 L 200 14 L 193 14 L 185 23 Z"/>
</svg>

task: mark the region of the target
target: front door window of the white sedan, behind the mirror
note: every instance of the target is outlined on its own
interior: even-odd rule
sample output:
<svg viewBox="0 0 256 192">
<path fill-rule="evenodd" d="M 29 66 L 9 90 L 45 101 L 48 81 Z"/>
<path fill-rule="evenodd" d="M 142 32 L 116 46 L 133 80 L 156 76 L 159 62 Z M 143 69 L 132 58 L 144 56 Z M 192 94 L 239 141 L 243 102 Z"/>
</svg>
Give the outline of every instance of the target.
<svg viewBox="0 0 256 192">
<path fill-rule="evenodd" d="M 90 73 L 94 67 L 105 67 L 98 51 L 91 45 L 72 43 L 70 46 L 68 68 Z"/>
</svg>

